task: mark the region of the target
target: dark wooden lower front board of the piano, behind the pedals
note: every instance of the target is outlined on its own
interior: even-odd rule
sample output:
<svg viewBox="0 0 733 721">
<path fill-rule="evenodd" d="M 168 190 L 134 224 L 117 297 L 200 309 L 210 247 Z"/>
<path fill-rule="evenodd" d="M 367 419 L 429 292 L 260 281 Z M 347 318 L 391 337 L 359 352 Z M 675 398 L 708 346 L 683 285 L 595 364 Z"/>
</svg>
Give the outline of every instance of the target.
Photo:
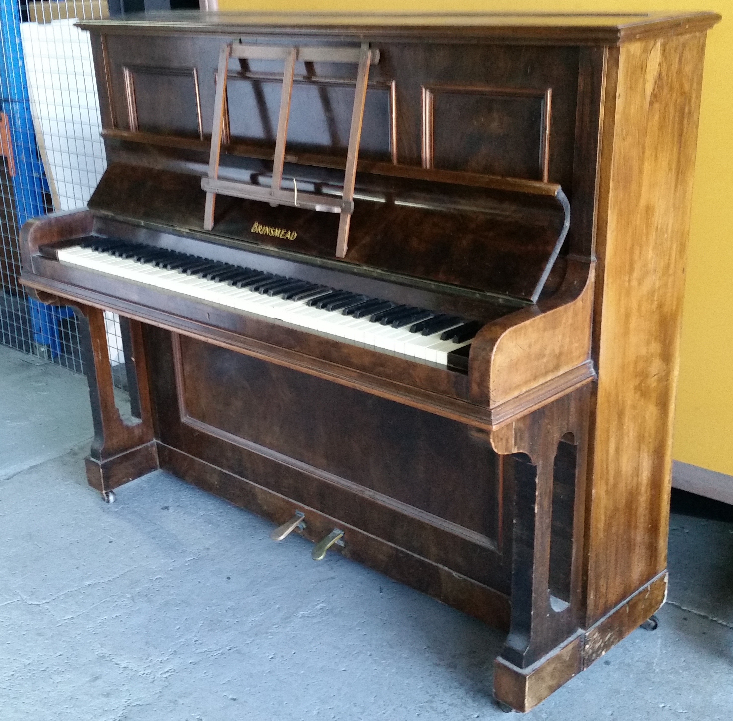
<svg viewBox="0 0 733 721">
<path fill-rule="evenodd" d="M 161 467 L 500 628 L 512 465 L 470 426 L 144 327 Z M 506 500 L 509 499 L 509 500 Z"/>
</svg>

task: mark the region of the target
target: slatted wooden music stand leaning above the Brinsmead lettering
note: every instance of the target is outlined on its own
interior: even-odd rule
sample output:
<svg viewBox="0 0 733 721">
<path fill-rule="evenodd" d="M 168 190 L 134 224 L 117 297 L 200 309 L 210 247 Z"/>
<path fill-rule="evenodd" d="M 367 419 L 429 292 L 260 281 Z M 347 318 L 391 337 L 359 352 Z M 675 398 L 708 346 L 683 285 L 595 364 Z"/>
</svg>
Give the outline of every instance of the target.
<svg viewBox="0 0 733 721">
<path fill-rule="evenodd" d="M 226 74 L 229 70 L 229 59 L 247 60 L 281 60 L 285 67 L 282 79 L 282 94 L 280 97 L 280 117 L 275 142 L 275 156 L 273 161 L 273 177 L 270 188 L 251 185 L 236 180 L 220 180 L 219 157 L 221 155 L 221 135 L 224 127 L 224 98 L 226 97 Z M 349 147 L 346 155 L 346 170 L 344 174 L 344 191 L 342 197 L 318 195 L 317 193 L 298 193 L 284 190 L 282 185 L 282 171 L 285 163 L 285 143 L 287 140 L 287 124 L 290 119 L 290 97 L 292 95 L 292 81 L 295 72 L 295 62 L 336 62 L 358 63 L 356 73 L 356 92 L 351 115 L 351 130 L 349 133 Z M 364 101 L 367 98 L 367 81 L 369 80 L 369 65 L 379 62 L 379 51 L 369 48 L 363 43 L 361 48 L 353 47 L 287 47 L 280 45 L 243 45 L 227 43 L 221 46 L 219 53 L 219 67 L 214 101 L 214 119 L 211 130 L 211 151 L 209 158 L 208 177 L 201 179 L 201 187 L 206 191 L 206 208 L 204 212 L 204 228 L 213 229 L 214 201 L 216 193 L 269 202 L 270 204 L 290 205 L 292 207 L 307 208 L 322 212 L 341 213 L 339 219 L 339 234 L 336 240 L 336 257 L 346 255 L 349 239 L 349 225 L 354 210 L 354 183 L 356 182 L 356 161 L 361 138 L 361 123 L 364 119 Z"/>
</svg>

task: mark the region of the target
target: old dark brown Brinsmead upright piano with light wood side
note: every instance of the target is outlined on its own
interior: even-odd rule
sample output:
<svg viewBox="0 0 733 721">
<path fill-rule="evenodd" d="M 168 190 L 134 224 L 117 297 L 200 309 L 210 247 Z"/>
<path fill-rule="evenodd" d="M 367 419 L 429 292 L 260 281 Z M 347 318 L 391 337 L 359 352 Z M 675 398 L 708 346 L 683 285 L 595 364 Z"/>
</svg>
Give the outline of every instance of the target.
<svg viewBox="0 0 733 721">
<path fill-rule="evenodd" d="M 718 20 L 79 23 L 108 167 L 22 281 L 82 319 L 89 484 L 169 470 L 506 629 L 496 698 L 546 698 L 666 596 Z"/>
</svg>

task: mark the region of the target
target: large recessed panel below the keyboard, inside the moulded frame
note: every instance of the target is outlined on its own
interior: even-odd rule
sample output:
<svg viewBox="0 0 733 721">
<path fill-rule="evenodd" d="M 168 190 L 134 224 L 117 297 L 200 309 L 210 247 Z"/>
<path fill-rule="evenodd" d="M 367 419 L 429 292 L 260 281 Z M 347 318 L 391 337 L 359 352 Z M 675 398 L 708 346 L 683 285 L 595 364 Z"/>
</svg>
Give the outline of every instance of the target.
<svg viewBox="0 0 733 721">
<path fill-rule="evenodd" d="M 403 513 L 432 514 L 498 545 L 498 456 L 468 426 L 199 341 L 182 337 L 180 352 L 183 413 L 198 427 L 332 474 L 357 497 L 377 493 Z"/>
</svg>

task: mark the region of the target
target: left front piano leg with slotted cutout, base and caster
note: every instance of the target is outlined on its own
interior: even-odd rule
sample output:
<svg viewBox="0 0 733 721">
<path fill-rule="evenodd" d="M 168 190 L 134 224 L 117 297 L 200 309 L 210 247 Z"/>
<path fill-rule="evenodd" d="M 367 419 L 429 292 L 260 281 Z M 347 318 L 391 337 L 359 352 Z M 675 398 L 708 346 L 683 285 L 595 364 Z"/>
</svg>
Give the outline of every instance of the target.
<svg viewBox="0 0 733 721">
<path fill-rule="evenodd" d="M 125 421 L 114 402 L 104 311 L 89 306 L 76 306 L 75 311 L 81 320 L 81 347 L 95 431 L 86 457 L 86 478 L 105 500 L 111 500 L 112 489 L 158 468 L 142 332 L 139 322 L 120 318 L 133 415 L 131 421 Z"/>
</svg>

